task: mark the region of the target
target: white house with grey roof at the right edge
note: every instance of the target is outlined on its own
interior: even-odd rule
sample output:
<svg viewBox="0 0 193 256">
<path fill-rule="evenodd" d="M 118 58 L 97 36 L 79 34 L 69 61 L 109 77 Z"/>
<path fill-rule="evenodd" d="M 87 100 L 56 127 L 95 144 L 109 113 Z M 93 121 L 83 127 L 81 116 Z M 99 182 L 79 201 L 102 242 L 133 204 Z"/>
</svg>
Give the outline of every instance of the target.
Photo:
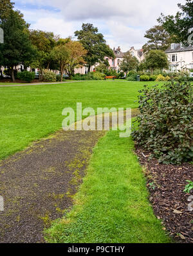
<svg viewBox="0 0 193 256">
<path fill-rule="evenodd" d="M 193 46 L 183 47 L 181 43 L 173 43 L 165 51 L 168 56 L 170 70 L 193 69 Z"/>
</svg>

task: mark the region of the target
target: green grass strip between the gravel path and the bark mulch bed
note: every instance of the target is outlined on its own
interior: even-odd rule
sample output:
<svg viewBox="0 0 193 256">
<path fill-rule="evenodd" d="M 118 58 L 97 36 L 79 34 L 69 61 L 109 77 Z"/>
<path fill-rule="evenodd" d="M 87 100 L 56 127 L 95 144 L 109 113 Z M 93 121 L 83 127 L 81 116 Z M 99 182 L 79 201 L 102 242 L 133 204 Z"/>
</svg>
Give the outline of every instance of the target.
<svg viewBox="0 0 193 256">
<path fill-rule="evenodd" d="M 47 242 L 170 242 L 148 201 L 131 138 L 109 132 L 95 147 L 75 204 L 46 231 Z"/>
</svg>

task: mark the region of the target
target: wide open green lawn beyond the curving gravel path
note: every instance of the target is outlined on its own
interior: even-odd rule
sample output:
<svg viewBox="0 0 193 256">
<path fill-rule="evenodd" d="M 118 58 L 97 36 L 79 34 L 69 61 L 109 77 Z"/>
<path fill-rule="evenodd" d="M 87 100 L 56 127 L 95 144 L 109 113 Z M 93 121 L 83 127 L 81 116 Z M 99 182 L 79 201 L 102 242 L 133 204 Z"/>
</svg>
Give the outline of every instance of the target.
<svg viewBox="0 0 193 256">
<path fill-rule="evenodd" d="M 137 108 L 138 90 L 156 82 L 84 81 L 55 85 L 0 87 L 0 159 L 23 150 L 62 126 L 62 110 Z M 161 83 L 161 82 L 160 82 Z"/>
</svg>

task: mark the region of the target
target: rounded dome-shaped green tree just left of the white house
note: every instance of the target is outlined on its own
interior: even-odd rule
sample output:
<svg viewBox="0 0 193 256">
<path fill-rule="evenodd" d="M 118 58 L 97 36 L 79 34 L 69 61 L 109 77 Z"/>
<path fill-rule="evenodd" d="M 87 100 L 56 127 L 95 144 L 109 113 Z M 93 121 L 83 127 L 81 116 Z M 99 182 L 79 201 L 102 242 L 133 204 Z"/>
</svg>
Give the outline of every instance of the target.
<svg viewBox="0 0 193 256">
<path fill-rule="evenodd" d="M 161 50 L 151 50 L 145 57 L 145 66 L 151 71 L 163 68 L 168 69 L 167 55 Z"/>
</svg>

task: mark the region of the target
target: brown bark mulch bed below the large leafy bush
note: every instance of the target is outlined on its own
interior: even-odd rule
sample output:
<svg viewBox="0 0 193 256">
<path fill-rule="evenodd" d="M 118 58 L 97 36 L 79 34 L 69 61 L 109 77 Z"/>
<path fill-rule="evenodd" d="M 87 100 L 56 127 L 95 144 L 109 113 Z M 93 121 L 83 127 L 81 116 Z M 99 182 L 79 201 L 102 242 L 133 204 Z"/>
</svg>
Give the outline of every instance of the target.
<svg viewBox="0 0 193 256">
<path fill-rule="evenodd" d="M 140 163 L 145 166 L 147 187 L 151 193 L 150 201 L 158 219 L 175 241 L 183 243 L 193 242 L 193 211 L 188 211 L 188 197 L 183 192 L 186 180 L 193 181 L 193 165 L 180 166 L 160 164 L 157 159 L 149 160 L 150 153 L 136 147 Z M 152 188 L 153 182 L 155 188 Z M 191 192 L 193 195 L 193 191 Z"/>
</svg>

